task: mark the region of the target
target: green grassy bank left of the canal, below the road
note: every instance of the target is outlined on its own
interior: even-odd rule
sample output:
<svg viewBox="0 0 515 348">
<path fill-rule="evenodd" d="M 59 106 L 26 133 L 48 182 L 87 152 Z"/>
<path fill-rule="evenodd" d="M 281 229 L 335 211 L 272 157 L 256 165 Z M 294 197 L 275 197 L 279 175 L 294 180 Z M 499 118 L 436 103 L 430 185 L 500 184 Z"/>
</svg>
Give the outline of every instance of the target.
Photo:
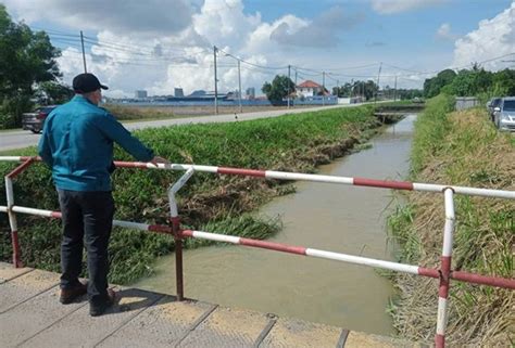
<svg viewBox="0 0 515 348">
<path fill-rule="evenodd" d="M 174 163 L 314 172 L 317 165 L 342 156 L 368 139 L 380 124 L 369 106 L 336 108 L 244 123 L 206 124 L 146 129 L 136 134 L 156 154 Z M 35 149 L 16 151 L 34 155 Z M 116 150 L 116 159 L 130 160 Z M 8 172 L 14 164 L 0 163 Z M 116 219 L 166 223 L 169 207 L 166 189 L 183 172 L 117 169 L 113 175 Z M 59 209 L 50 170 L 32 166 L 14 185 L 16 205 Z M 278 231 L 276 219 L 250 212 L 275 196 L 294 191 L 275 180 L 196 173 L 178 194 L 186 227 L 213 232 L 265 239 Z M 4 192 L 3 181 L 0 192 Z M 0 205 L 5 203 L 0 195 Z M 18 215 L 23 259 L 27 266 L 59 270 L 60 221 Z M 11 245 L 7 216 L 0 215 L 0 256 L 8 261 Z M 187 247 L 203 245 L 188 241 Z M 156 256 L 173 249 L 173 239 L 134 230 L 115 229 L 110 245 L 110 281 L 127 283 L 152 272 Z"/>
</svg>

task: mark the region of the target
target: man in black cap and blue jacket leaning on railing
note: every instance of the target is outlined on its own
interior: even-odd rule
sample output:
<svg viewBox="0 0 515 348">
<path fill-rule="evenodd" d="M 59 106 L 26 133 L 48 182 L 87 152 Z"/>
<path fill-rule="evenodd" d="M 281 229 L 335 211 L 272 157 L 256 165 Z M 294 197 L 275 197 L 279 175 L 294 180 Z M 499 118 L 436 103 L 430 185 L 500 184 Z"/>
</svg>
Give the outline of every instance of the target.
<svg viewBox="0 0 515 348">
<path fill-rule="evenodd" d="M 141 162 L 167 163 L 134 138 L 108 111 L 98 106 L 102 89 L 92 74 L 73 79 L 76 95 L 47 118 L 39 155 L 52 168 L 63 219 L 61 244 L 62 304 L 88 293 L 89 313 L 102 314 L 115 294 L 108 289 L 108 245 L 114 215 L 110 173 L 113 142 Z M 83 242 L 84 240 L 84 242 Z M 78 281 L 83 247 L 88 255 L 89 283 Z"/>
</svg>

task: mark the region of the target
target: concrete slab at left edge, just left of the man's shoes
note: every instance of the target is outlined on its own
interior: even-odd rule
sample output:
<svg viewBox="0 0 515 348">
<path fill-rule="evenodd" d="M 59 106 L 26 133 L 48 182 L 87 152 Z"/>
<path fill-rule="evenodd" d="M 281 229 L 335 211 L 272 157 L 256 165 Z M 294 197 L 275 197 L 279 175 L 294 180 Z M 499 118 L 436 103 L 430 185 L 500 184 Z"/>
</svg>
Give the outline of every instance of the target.
<svg viewBox="0 0 515 348">
<path fill-rule="evenodd" d="M 59 274 L 34 270 L 0 284 L 0 313 L 59 284 Z"/>
</svg>

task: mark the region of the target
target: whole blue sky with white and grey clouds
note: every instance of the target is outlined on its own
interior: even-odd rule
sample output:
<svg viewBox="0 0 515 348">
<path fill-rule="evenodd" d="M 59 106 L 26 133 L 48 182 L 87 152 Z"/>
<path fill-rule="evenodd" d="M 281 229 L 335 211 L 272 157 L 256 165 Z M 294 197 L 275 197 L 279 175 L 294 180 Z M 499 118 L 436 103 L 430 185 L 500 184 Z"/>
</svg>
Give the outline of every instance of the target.
<svg viewBox="0 0 515 348">
<path fill-rule="evenodd" d="M 330 89 L 422 88 L 444 68 L 515 68 L 515 0 L 0 0 L 59 47 L 63 82 L 87 69 L 112 98 L 183 88 L 258 94 L 278 74 Z"/>
</svg>

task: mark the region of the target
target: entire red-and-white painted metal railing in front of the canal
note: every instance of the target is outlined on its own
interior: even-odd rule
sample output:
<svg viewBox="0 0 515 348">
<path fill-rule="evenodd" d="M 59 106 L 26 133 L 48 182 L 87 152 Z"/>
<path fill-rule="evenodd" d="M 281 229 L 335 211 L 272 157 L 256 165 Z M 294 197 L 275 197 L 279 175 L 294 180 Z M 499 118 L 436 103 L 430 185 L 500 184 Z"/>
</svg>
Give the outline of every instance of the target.
<svg viewBox="0 0 515 348">
<path fill-rule="evenodd" d="M 15 267 L 21 267 L 21 250 L 17 237 L 17 223 L 16 212 L 37 215 L 49 218 L 61 218 L 61 212 L 42 210 L 29 207 L 20 207 L 14 205 L 14 194 L 12 180 L 20 175 L 23 170 L 29 167 L 34 162 L 41 160 L 39 157 L 25 157 L 25 156 L 0 156 L 1 160 L 10 162 L 22 162 L 22 165 L 16 167 L 13 171 L 5 176 L 5 191 L 7 191 L 7 206 L 0 206 L 0 212 L 7 212 L 9 215 L 9 221 L 11 227 L 11 236 L 13 244 L 13 263 Z M 388 181 L 388 180 L 375 180 L 366 178 L 347 178 L 347 177 L 335 177 L 335 176 L 318 176 L 318 175 L 305 175 L 296 172 L 284 172 L 284 171 L 271 171 L 271 170 L 254 170 L 254 169 L 239 169 L 239 168 L 227 168 L 227 167 L 214 167 L 214 166 L 197 166 L 197 165 L 181 165 L 181 164 L 160 164 L 158 166 L 150 163 L 140 162 L 115 162 L 116 167 L 123 168 L 141 168 L 141 169 L 165 169 L 165 170 L 186 170 L 185 175 L 168 189 L 169 199 L 169 212 L 171 212 L 171 227 L 169 225 L 158 225 L 158 224 L 146 224 L 131 221 L 113 220 L 113 224 L 117 227 L 152 231 L 159 233 L 173 234 L 175 239 L 175 257 L 176 257 L 176 278 L 177 278 L 177 299 L 183 300 L 184 287 L 183 287 L 183 239 L 194 237 L 203 239 L 215 242 L 224 242 L 236 245 L 243 245 L 250 247 L 265 248 L 281 253 L 297 254 L 310 257 L 325 258 L 336 261 L 349 262 L 354 265 L 380 268 L 391 270 L 395 272 L 403 272 L 410 274 L 416 274 L 422 276 L 429 276 L 439 279 L 439 298 L 438 298 L 438 317 L 437 317 L 437 328 L 435 335 L 435 344 L 437 347 L 443 347 L 445 344 L 445 327 L 447 327 L 447 307 L 449 297 L 450 280 L 456 280 L 461 282 L 467 282 L 473 284 L 489 285 L 508 289 L 515 289 L 515 279 L 498 278 L 490 275 L 481 275 L 475 273 L 468 273 L 464 271 L 453 271 L 451 269 L 451 257 L 452 257 L 452 243 L 454 232 L 454 195 L 465 194 L 474 196 L 485 197 L 498 197 L 506 199 L 515 199 L 514 191 L 503 190 L 488 190 L 477 189 L 467 186 L 454 186 L 454 185 L 440 185 L 440 184 L 428 184 L 428 183 L 413 183 L 404 181 Z M 209 233 L 202 231 L 181 230 L 180 220 L 178 215 L 177 203 L 175 194 L 186 184 L 191 178 L 194 171 L 204 171 L 218 175 L 236 175 L 247 177 L 258 177 L 267 179 L 278 180 L 303 180 L 313 182 L 326 182 L 335 184 L 348 184 L 357 186 L 369 186 L 380 189 L 393 189 L 393 190 L 410 190 L 410 191 L 424 191 L 424 192 L 437 192 L 443 193 L 443 203 L 445 207 L 445 224 L 443 231 L 443 246 L 442 256 L 440 260 L 440 268 L 425 268 L 413 265 L 405 265 L 399 262 L 391 262 L 385 260 L 377 260 L 367 257 L 347 255 L 341 253 L 332 253 L 327 250 L 319 250 L 314 248 L 307 248 L 303 246 L 292 246 L 280 243 L 273 243 L 266 241 L 258 241 L 251 239 L 244 239 L 233 235 L 224 235 L 216 233 Z"/>
</svg>

